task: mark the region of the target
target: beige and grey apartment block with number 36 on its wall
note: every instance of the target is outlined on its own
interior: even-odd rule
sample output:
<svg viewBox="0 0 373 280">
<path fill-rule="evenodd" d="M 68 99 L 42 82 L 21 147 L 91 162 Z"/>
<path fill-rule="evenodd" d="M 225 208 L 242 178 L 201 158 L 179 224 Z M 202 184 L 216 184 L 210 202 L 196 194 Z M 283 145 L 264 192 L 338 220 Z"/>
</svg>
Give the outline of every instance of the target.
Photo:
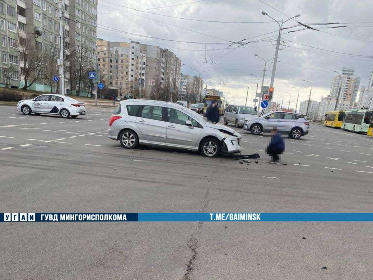
<svg viewBox="0 0 373 280">
<path fill-rule="evenodd" d="M 97 40 L 100 78 L 119 96 L 152 99 L 155 88 L 179 91 L 181 60 L 167 49 L 139 42 Z"/>
</svg>

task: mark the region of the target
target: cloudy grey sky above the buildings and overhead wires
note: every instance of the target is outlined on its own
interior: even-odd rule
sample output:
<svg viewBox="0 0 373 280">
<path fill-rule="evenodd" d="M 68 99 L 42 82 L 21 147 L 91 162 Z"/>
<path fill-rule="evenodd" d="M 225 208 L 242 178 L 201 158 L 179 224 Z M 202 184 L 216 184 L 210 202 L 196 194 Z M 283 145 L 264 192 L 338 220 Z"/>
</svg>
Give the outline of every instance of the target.
<svg viewBox="0 0 373 280">
<path fill-rule="evenodd" d="M 339 22 L 323 26 L 348 26 L 290 33 L 303 27 L 283 30 L 275 101 L 281 102 L 283 97 L 285 106 L 290 94 L 291 107 L 295 107 L 297 90 L 292 86 L 299 88 L 300 101 L 308 99 L 310 86 L 303 80 L 313 84 L 311 98 L 319 101 L 329 94 L 336 75 L 333 71 L 341 72 L 343 66 L 354 67 L 361 85 L 367 84 L 373 65 L 373 6 L 368 0 L 98 0 L 98 37 L 126 42 L 131 38 L 168 48 L 181 58 L 182 73 L 195 75 L 191 68 L 209 70 L 202 77 L 215 79 L 209 85 L 228 92 L 231 103 L 244 103 L 249 86 L 248 104 L 253 105 L 257 79 L 250 74 L 261 78 L 264 67 L 254 53 L 272 59 L 279 29 L 278 23 L 261 11 L 277 21 L 300 14 L 296 19 L 302 23 Z M 297 24 L 291 19 L 283 27 Z M 240 46 L 230 43 L 241 40 L 256 42 Z M 269 63 L 264 85 L 270 82 Z"/>
</svg>

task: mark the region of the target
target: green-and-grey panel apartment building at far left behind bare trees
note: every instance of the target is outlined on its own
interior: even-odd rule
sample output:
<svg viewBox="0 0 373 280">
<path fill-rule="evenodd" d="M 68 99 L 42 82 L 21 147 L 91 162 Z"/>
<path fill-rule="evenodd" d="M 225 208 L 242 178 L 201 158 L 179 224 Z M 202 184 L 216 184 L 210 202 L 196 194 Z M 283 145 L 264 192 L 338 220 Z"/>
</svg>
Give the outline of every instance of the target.
<svg viewBox="0 0 373 280">
<path fill-rule="evenodd" d="M 61 13 L 60 13 L 61 8 Z M 88 95 L 92 89 L 87 70 L 95 69 L 97 0 L 1 0 L 1 83 L 4 70 L 15 69 L 11 85 L 50 91 L 58 75 L 60 18 L 63 21 L 65 89 Z M 84 67 L 79 62 L 84 58 Z M 26 62 L 27 61 L 27 62 Z M 5 71 L 6 72 L 6 71 Z M 79 86 L 80 82 L 80 86 Z"/>
</svg>

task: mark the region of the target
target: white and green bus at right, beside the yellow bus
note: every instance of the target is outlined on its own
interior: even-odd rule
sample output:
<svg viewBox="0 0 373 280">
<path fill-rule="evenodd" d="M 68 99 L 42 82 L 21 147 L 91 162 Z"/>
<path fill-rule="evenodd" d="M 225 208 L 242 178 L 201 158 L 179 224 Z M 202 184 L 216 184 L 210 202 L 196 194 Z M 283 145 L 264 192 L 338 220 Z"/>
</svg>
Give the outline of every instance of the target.
<svg viewBox="0 0 373 280">
<path fill-rule="evenodd" d="M 373 115 L 373 109 L 351 110 L 345 112 L 346 116 L 342 123 L 343 130 L 352 132 L 368 132 L 370 121 Z"/>
</svg>

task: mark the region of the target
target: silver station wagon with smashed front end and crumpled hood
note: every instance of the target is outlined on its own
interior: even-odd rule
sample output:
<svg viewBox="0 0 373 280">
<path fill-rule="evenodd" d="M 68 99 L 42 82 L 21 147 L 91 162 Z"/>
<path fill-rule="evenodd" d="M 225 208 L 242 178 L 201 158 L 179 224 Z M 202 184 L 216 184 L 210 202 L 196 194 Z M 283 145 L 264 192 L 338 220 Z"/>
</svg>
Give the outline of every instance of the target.
<svg viewBox="0 0 373 280">
<path fill-rule="evenodd" d="M 120 101 L 109 120 L 109 138 L 127 149 L 139 144 L 200 151 L 206 157 L 220 152 L 241 151 L 241 135 L 235 130 L 210 123 L 199 114 L 175 103 L 134 100 Z"/>
</svg>

